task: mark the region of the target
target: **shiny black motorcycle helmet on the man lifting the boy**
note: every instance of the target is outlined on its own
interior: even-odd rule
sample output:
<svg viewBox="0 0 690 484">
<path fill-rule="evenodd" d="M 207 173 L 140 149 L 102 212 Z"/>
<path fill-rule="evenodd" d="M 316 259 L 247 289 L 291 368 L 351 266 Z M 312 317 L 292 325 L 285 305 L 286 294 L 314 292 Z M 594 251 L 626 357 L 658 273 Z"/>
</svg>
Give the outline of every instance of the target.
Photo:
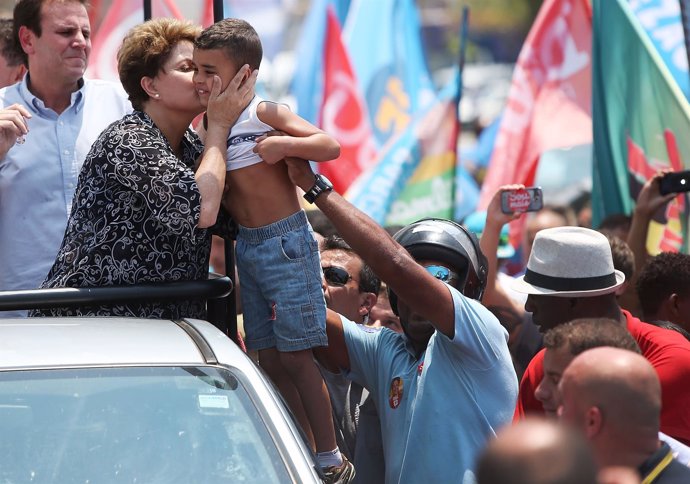
<svg viewBox="0 0 690 484">
<path fill-rule="evenodd" d="M 447 264 L 457 272 L 457 288 L 465 296 L 481 301 L 486 287 L 488 263 L 477 237 L 450 220 L 425 218 L 400 229 L 393 238 L 415 260 L 433 260 Z M 390 286 L 391 309 L 398 314 L 398 297 Z"/>
</svg>

